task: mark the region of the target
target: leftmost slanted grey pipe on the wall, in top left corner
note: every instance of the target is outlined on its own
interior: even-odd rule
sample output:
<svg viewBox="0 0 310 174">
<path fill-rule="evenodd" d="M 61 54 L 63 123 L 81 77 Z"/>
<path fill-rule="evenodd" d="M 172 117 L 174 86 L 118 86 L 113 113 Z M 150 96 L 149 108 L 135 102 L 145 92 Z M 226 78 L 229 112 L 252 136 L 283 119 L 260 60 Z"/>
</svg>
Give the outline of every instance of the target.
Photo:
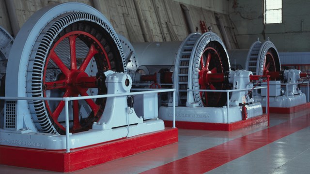
<svg viewBox="0 0 310 174">
<path fill-rule="evenodd" d="M 6 8 L 9 13 L 9 19 L 13 31 L 14 37 L 16 37 L 18 31 L 19 31 L 19 24 L 17 20 L 17 15 L 15 11 L 15 6 L 13 0 L 5 0 Z"/>
</svg>

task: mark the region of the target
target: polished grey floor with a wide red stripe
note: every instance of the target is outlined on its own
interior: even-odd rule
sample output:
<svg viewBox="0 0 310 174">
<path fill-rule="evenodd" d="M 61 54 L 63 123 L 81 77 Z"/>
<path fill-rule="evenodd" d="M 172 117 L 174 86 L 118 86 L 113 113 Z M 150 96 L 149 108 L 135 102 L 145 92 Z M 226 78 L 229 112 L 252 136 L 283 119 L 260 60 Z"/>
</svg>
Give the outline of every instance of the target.
<svg viewBox="0 0 310 174">
<path fill-rule="evenodd" d="M 38 159 L 44 160 L 44 159 Z M 0 174 L 55 174 L 0 165 Z M 236 131 L 179 129 L 179 142 L 74 174 L 310 174 L 310 109 Z"/>
</svg>

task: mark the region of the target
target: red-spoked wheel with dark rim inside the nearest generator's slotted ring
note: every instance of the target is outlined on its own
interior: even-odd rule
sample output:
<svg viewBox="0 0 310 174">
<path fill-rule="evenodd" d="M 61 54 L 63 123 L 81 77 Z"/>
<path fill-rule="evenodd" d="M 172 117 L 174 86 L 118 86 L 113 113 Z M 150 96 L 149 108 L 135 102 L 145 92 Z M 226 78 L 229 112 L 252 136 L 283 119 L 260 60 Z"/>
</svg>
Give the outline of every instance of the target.
<svg viewBox="0 0 310 174">
<path fill-rule="evenodd" d="M 73 23 L 58 34 L 49 49 L 43 72 L 44 97 L 78 97 L 92 94 L 106 94 L 106 88 L 101 88 L 102 72 L 108 70 L 123 71 L 116 67 L 117 60 L 110 50 L 102 31 L 98 31 L 95 25 L 82 21 Z M 91 31 L 91 32 L 90 32 Z M 93 34 L 92 34 L 93 33 Z M 120 60 L 118 60 L 118 64 Z M 100 70 L 100 71 L 98 71 Z M 93 71 L 97 75 L 92 76 Z M 38 75 L 33 73 L 32 76 Z M 33 85 L 38 85 L 32 82 Z M 96 88 L 97 92 L 89 88 Z M 33 95 L 41 90 L 32 90 Z M 92 92 L 92 94 L 90 93 Z M 54 127 L 64 131 L 63 107 L 64 102 L 46 101 L 48 116 L 54 121 Z M 97 121 L 102 115 L 105 100 L 87 99 L 85 101 L 73 101 L 73 126 L 72 131 L 89 129 L 93 121 Z M 84 112 L 82 112 L 83 110 Z M 84 117 L 88 115 L 88 117 Z"/>
</svg>

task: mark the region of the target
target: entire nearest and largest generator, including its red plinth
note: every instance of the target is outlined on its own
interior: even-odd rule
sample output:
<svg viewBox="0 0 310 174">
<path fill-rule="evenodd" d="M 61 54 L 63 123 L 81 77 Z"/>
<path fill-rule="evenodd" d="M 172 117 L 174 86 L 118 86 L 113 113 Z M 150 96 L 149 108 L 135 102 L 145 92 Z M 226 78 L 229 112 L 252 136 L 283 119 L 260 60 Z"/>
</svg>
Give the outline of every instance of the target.
<svg viewBox="0 0 310 174">
<path fill-rule="evenodd" d="M 127 52 L 106 17 L 93 7 L 76 2 L 45 7 L 27 20 L 14 43 L 7 33 L 2 37 L 2 31 L 1 164 L 71 172 L 177 142 L 177 130 L 166 135 L 157 108 L 144 107 L 137 116 L 126 67 L 134 58 L 125 57 L 130 49 Z M 156 93 L 147 96 L 147 103 L 157 103 Z M 164 138 L 156 138 L 158 133 Z M 143 137 L 150 136 L 152 141 L 145 144 Z M 19 158 L 50 154 L 57 164 Z"/>
</svg>

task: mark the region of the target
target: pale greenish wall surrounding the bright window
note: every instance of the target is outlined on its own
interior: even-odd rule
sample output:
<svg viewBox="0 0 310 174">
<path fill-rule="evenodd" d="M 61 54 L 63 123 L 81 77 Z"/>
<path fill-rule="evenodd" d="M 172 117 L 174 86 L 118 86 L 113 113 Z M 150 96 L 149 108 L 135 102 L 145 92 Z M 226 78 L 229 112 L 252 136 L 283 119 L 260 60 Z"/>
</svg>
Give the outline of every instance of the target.
<svg viewBox="0 0 310 174">
<path fill-rule="evenodd" d="M 241 49 L 268 37 L 278 51 L 310 51 L 310 0 L 282 0 L 282 24 L 263 24 L 263 0 L 229 0 Z M 303 24 L 302 24 L 303 23 Z"/>
</svg>

